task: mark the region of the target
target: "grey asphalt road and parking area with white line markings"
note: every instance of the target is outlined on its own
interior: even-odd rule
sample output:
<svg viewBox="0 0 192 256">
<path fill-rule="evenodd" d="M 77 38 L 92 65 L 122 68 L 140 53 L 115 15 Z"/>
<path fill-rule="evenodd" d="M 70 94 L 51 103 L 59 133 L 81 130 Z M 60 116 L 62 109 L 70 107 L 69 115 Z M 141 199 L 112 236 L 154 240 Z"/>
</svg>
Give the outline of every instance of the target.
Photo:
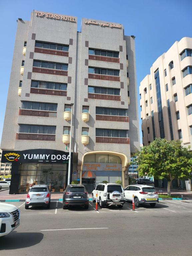
<svg viewBox="0 0 192 256">
<path fill-rule="evenodd" d="M 1 255 L 191 255 L 192 200 L 166 201 L 155 208 L 50 209 L 12 203 L 21 211 L 20 226 L 0 238 Z M 134 246 L 133 246 L 133 245 Z"/>
</svg>

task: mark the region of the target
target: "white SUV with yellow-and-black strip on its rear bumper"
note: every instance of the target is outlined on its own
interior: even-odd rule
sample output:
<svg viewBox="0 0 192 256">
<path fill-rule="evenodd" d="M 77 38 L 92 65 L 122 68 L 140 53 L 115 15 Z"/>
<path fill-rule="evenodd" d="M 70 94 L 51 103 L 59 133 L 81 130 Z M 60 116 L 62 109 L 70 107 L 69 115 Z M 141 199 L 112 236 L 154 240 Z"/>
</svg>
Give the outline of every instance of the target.
<svg viewBox="0 0 192 256">
<path fill-rule="evenodd" d="M 158 194 L 154 187 L 147 185 L 130 185 L 125 189 L 125 198 L 132 201 L 134 195 L 134 204 L 139 207 L 140 204 L 150 204 L 152 207 L 159 202 Z"/>
</svg>

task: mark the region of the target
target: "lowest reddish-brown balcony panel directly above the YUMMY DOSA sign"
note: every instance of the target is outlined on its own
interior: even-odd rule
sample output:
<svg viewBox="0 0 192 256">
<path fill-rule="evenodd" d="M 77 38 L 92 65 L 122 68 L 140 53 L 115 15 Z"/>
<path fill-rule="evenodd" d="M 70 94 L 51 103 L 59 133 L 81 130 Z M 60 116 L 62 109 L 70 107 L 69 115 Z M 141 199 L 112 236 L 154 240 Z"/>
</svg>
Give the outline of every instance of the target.
<svg viewBox="0 0 192 256">
<path fill-rule="evenodd" d="M 55 134 L 16 133 L 16 140 L 49 140 L 49 141 L 55 141 Z"/>
</svg>

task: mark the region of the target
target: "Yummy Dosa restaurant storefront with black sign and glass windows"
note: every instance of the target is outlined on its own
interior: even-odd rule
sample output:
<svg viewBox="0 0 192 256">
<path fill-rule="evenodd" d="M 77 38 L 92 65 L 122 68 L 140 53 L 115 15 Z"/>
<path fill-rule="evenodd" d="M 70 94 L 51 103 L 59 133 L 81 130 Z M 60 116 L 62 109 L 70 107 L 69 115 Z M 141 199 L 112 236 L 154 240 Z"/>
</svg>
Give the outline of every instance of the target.
<svg viewBox="0 0 192 256">
<path fill-rule="evenodd" d="M 27 193 L 30 187 L 39 184 L 48 185 L 52 192 L 63 192 L 67 186 L 68 152 L 50 149 L 3 151 L 2 162 L 12 163 L 10 194 Z"/>
</svg>

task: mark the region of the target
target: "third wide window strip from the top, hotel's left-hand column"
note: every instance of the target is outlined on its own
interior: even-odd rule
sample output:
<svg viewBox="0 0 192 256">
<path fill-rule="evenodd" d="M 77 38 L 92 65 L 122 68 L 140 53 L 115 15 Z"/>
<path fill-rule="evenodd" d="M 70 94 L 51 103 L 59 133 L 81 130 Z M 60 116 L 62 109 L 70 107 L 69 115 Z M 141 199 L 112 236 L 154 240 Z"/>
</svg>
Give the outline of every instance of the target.
<svg viewBox="0 0 192 256">
<path fill-rule="evenodd" d="M 62 83 L 53 83 L 53 82 L 33 81 L 32 80 L 31 87 L 67 91 L 67 84 L 62 84 Z"/>
</svg>

